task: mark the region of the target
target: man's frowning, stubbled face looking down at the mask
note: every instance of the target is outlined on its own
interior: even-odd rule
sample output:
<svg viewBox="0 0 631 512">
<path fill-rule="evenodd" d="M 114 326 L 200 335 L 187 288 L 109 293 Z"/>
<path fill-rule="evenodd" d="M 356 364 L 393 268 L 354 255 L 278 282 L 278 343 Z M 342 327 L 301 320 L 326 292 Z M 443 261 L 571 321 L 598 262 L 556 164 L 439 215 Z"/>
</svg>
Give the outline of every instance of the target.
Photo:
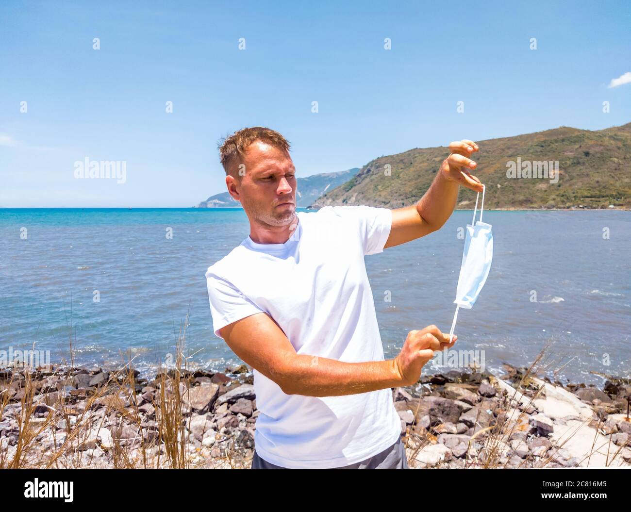
<svg viewBox="0 0 631 512">
<path fill-rule="evenodd" d="M 288 153 L 254 141 L 241 162 L 239 201 L 249 217 L 269 226 L 286 226 L 296 215 L 296 177 Z M 239 168 L 237 164 L 237 173 Z"/>
</svg>

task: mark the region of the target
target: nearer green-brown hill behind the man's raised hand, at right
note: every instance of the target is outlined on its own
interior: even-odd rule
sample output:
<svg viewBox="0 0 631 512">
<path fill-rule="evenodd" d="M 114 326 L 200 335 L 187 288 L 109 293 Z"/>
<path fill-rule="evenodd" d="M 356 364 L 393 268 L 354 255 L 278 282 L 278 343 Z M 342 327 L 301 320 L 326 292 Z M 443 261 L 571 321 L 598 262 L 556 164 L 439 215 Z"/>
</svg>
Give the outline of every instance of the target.
<svg viewBox="0 0 631 512">
<path fill-rule="evenodd" d="M 476 143 L 480 152 L 473 154 L 478 163 L 473 174 L 487 185 L 485 207 L 631 207 L 631 123 L 599 131 L 560 127 Z M 381 156 L 310 207 L 415 204 L 448 155 L 449 150 L 440 147 Z M 554 178 L 508 177 L 518 164 L 527 176 L 528 166 L 536 170 L 543 161 L 551 162 L 550 168 L 558 162 L 557 183 Z M 461 187 L 457 207 L 474 204 L 475 194 Z"/>
</svg>

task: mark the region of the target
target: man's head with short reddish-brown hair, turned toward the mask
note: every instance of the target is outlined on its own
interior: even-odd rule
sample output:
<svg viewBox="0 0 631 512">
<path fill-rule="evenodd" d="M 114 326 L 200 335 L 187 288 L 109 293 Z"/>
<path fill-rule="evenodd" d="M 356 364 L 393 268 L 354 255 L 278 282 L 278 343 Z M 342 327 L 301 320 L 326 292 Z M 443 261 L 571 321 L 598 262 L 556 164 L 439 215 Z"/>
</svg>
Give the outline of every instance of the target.
<svg viewBox="0 0 631 512">
<path fill-rule="evenodd" d="M 261 126 L 239 130 L 220 144 L 228 192 L 251 221 L 286 226 L 295 218 L 296 178 L 289 148 L 280 133 Z"/>
</svg>

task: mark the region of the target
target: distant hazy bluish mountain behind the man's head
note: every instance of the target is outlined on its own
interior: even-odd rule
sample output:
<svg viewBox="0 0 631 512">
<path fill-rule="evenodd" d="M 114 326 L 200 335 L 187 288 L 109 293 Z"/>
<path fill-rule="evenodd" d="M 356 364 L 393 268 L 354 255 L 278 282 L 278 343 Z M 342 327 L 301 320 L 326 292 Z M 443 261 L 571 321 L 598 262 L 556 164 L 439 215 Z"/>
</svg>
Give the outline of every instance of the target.
<svg viewBox="0 0 631 512">
<path fill-rule="evenodd" d="M 359 172 L 359 168 L 355 167 L 347 171 L 327 172 L 314 174 L 306 178 L 297 178 L 296 184 L 298 193 L 296 195 L 296 206 L 298 208 L 306 208 L 312 202 L 317 200 L 327 190 L 333 190 L 342 183 L 348 182 Z M 228 192 L 211 195 L 206 201 L 199 203 L 198 208 L 240 208 L 239 201 L 232 199 L 232 195 Z"/>
</svg>

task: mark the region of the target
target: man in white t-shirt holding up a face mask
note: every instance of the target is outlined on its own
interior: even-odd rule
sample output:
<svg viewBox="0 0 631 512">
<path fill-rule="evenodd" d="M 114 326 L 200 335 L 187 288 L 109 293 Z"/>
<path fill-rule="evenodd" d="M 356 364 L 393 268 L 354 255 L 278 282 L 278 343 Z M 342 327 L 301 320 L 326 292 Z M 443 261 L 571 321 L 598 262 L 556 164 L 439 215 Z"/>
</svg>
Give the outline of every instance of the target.
<svg viewBox="0 0 631 512">
<path fill-rule="evenodd" d="M 415 206 L 327 206 L 296 213 L 289 143 L 263 127 L 220 148 L 228 192 L 250 235 L 206 272 L 215 334 L 253 368 L 260 415 L 252 468 L 406 468 L 391 388 L 416 383 L 433 352 L 452 347 L 435 325 L 411 331 L 384 360 L 364 256 L 438 230 L 478 151 L 451 143 Z"/>
</svg>

